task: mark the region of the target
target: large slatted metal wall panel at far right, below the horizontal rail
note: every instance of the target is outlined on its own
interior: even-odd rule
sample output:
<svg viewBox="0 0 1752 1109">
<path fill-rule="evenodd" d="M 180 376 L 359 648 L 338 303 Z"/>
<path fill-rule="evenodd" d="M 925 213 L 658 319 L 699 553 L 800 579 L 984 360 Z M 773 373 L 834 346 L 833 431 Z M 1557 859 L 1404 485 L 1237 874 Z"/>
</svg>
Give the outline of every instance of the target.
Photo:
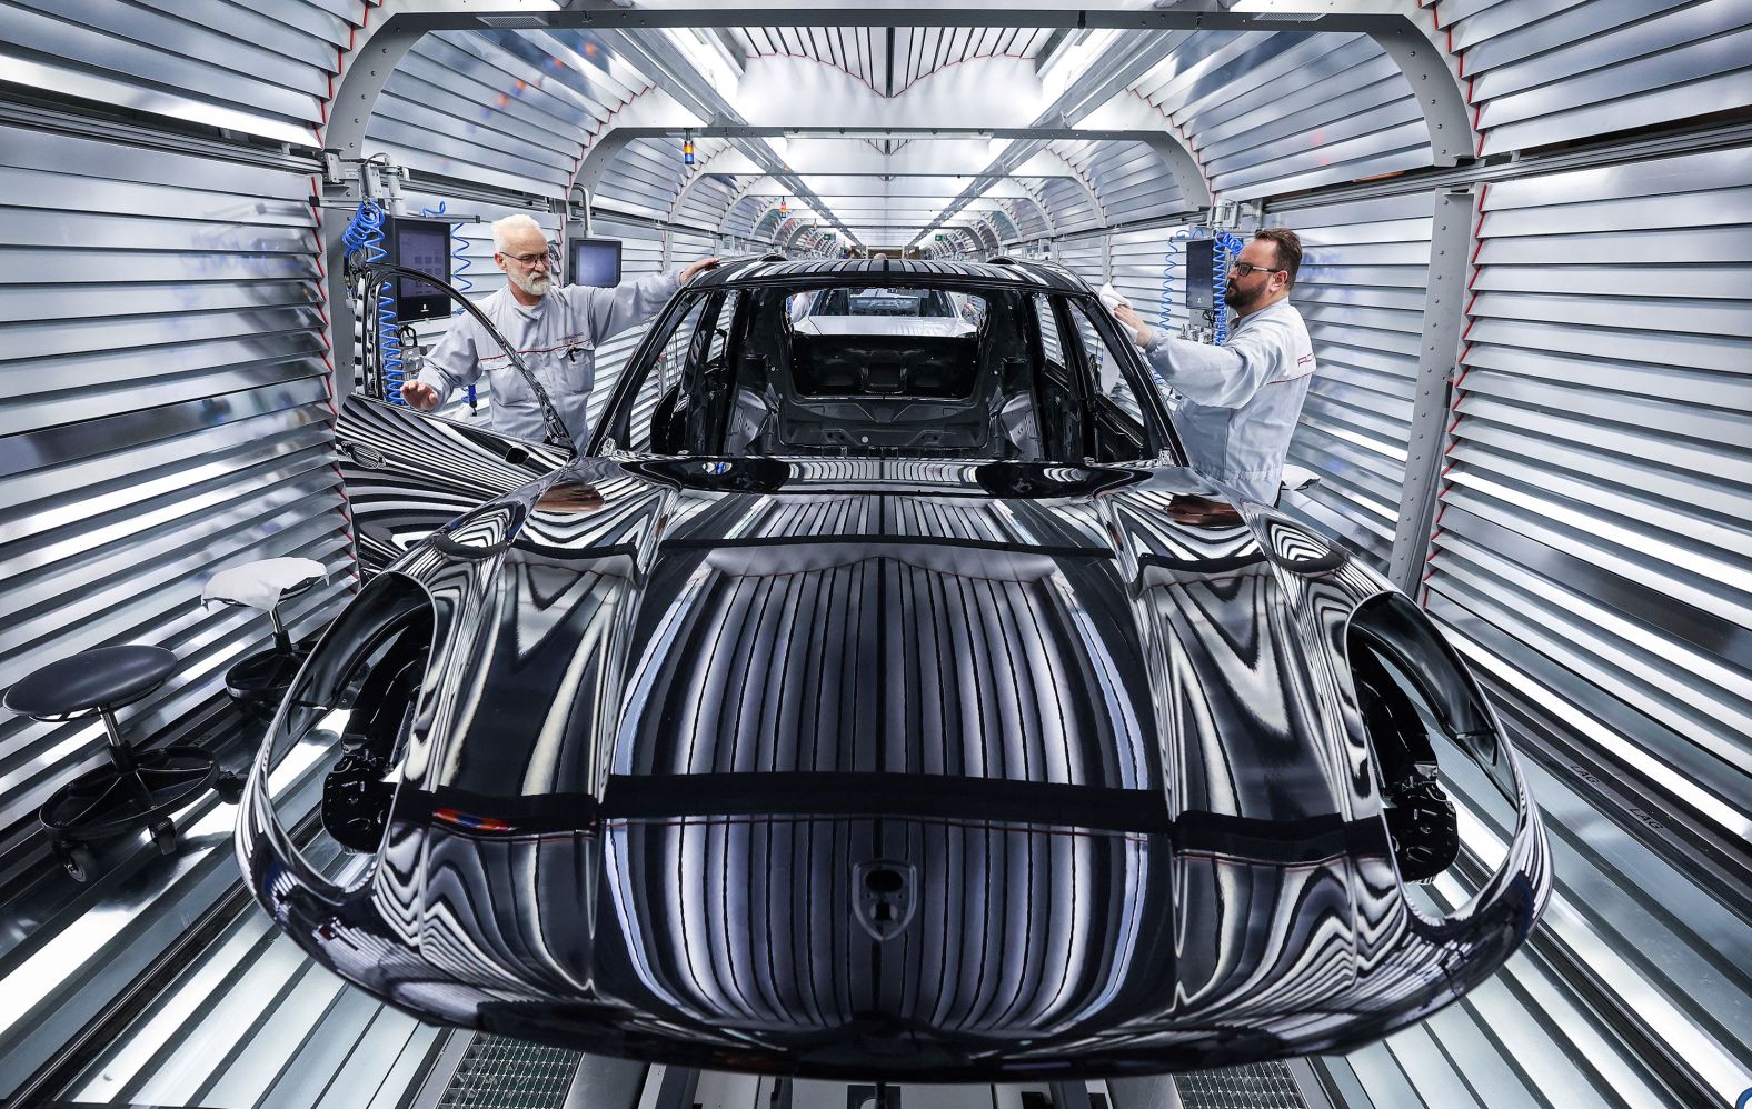
<svg viewBox="0 0 1752 1109">
<path fill-rule="evenodd" d="M 1486 191 L 1426 594 L 1729 841 L 1752 808 L 1748 194 L 1747 149 Z"/>
</svg>

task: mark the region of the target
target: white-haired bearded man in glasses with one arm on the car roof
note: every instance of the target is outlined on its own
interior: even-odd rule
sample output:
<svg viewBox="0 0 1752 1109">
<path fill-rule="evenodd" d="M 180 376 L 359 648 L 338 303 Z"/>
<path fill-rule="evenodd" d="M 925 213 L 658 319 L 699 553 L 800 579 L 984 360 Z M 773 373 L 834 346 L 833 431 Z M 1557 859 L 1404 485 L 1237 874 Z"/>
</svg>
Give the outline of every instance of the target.
<svg viewBox="0 0 1752 1109">
<path fill-rule="evenodd" d="M 624 280 L 613 289 L 555 286 L 547 233 L 529 215 L 506 215 L 492 224 L 492 261 L 505 270 L 506 286 L 477 307 L 522 356 L 580 449 L 590 436 L 596 345 L 650 321 L 696 273 L 718 265 L 717 258 L 704 258 L 687 268 Z M 471 315 L 450 322 L 419 375 L 401 385 L 401 398 L 413 408 L 431 410 L 482 375 L 492 385 L 494 431 L 526 440 L 547 434 L 540 401 L 510 356 Z"/>
</svg>

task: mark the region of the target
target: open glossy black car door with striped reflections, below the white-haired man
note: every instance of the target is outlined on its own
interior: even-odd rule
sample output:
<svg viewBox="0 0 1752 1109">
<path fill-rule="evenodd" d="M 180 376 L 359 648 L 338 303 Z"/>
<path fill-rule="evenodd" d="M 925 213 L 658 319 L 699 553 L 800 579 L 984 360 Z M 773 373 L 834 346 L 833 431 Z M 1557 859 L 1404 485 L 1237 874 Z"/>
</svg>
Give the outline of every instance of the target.
<svg viewBox="0 0 1752 1109">
<path fill-rule="evenodd" d="M 359 576 L 371 578 L 457 515 L 571 461 L 531 443 L 352 394 L 335 429 Z"/>
</svg>

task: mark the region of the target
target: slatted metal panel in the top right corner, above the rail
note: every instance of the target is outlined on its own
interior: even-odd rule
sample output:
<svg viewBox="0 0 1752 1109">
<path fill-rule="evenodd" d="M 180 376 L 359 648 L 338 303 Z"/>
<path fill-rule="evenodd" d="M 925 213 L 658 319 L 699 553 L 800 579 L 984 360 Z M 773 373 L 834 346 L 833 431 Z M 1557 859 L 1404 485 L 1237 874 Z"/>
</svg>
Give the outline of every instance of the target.
<svg viewBox="0 0 1752 1109">
<path fill-rule="evenodd" d="M 1445 2 L 1484 152 L 1752 105 L 1752 7 L 1643 0 Z"/>
</svg>

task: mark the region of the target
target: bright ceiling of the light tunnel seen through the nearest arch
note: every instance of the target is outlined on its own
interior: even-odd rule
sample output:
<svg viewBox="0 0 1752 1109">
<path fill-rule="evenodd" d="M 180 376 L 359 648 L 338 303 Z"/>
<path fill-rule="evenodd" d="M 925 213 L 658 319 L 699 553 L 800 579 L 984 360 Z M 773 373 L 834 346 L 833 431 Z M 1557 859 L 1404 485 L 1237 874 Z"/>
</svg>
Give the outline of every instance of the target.
<svg viewBox="0 0 1752 1109">
<path fill-rule="evenodd" d="M 965 249 L 1433 159 L 1368 35 L 1046 26 L 434 32 L 368 147 L 548 196 L 576 180 L 601 208 L 722 235 L 801 221 Z"/>
</svg>

